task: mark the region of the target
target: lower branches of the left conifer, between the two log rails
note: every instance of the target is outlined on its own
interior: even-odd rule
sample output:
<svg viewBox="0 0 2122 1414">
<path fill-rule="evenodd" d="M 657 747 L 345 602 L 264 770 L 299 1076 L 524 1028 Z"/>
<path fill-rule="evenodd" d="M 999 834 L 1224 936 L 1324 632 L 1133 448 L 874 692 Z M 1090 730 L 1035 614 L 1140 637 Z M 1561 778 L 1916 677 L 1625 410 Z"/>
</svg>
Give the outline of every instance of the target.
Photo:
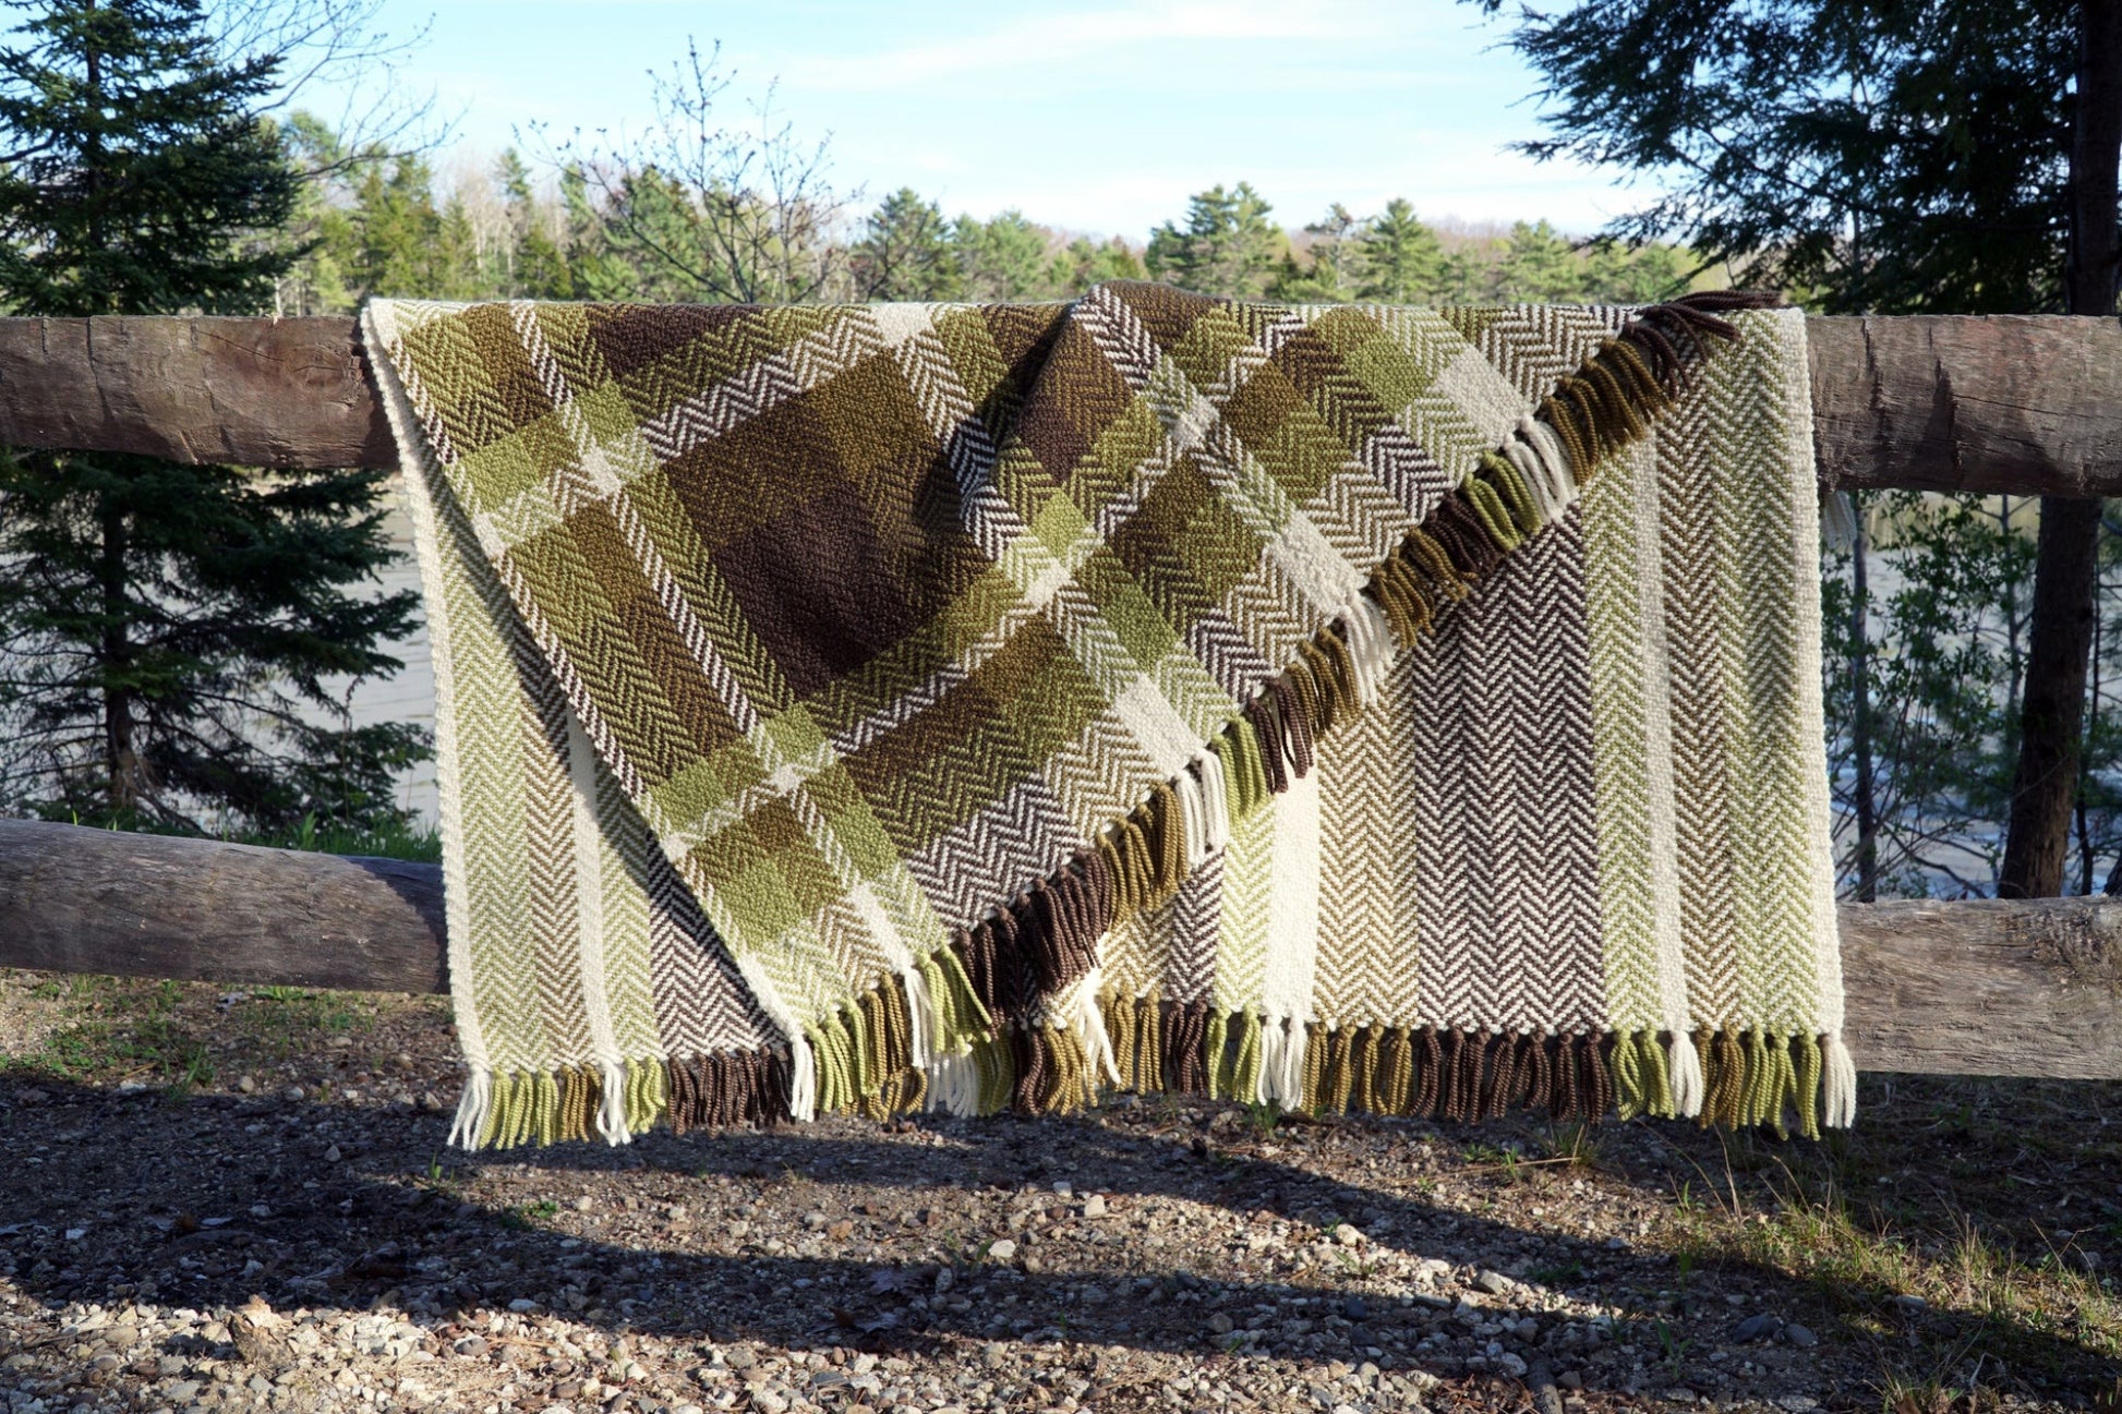
<svg viewBox="0 0 2122 1414">
<path fill-rule="evenodd" d="M 0 461 L 11 794 L 93 822 L 395 820 L 424 732 L 346 724 L 333 682 L 395 671 L 380 645 L 412 628 L 412 594 L 344 588 L 390 558 L 384 490 L 380 471 Z"/>
</svg>

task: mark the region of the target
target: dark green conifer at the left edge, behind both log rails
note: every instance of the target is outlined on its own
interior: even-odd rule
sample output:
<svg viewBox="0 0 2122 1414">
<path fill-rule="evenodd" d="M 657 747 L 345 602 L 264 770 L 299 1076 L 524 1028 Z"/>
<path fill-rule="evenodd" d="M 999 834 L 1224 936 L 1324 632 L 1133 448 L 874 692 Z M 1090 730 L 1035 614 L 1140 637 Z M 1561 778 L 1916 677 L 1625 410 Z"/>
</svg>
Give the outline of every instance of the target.
<svg viewBox="0 0 2122 1414">
<path fill-rule="evenodd" d="M 299 178 L 259 121 L 274 57 L 216 57 L 197 0 L 28 0 L 0 49 L 0 301 L 21 314 L 259 312 Z M 121 824 L 384 824 L 410 726 L 350 728 L 333 679 L 397 669 L 412 594 L 384 473 L 146 456 L 0 459 L 0 783 Z M 327 724 L 318 724 L 323 718 Z"/>
</svg>

